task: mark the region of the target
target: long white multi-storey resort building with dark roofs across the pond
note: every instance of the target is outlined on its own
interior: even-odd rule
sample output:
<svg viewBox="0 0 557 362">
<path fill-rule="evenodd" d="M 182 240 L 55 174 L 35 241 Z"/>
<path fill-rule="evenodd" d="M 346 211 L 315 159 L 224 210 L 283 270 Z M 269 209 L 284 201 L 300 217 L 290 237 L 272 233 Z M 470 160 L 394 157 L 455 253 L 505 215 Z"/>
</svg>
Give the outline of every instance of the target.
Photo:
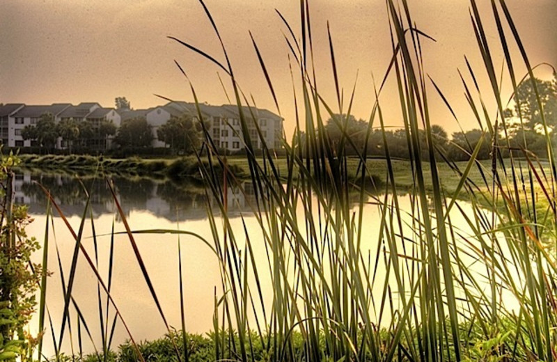
<svg viewBox="0 0 557 362">
<path fill-rule="evenodd" d="M 201 118 L 209 127 L 214 146 L 230 152 L 238 152 L 245 148 L 244 136 L 240 127 L 240 109 L 235 105 L 223 104 L 212 106 L 199 104 Z M 164 106 L 150 109 L 113 109 L 103 108 L 95 102 L 80 103 L 73 106 L 69 103 L 55 103 L 51 105 L 4 104 L 0 106 L 0 141 L 8 147 L 30 147 L 33 142 L 24 140 L 22 129 L 26 125 L 35 125 L 44 113 L 52 113 L 56 123 L 61 120 L 73 119 L 78 122 L 91 122 L 98 127 L 104 120 L 112 122 L 116 127 L 132 118 L 145 118 L 152 129 L 152 147 L 164 148 L 167 145 L 157 138 L 157 129 L 171 118 L 179 118 L 184 114 L 198 120 L 196 104 L 188 102 L 169 102 Z M 242 113 L 247 124 L 253 148 L 262 147 L 265 141 L 267 148 L 282 148 L 283 118 L 267 109 L 242 107 Z M 256 123 L 261 131 L 260 139 Z M 109 139 L 99 139 L 91 144 L 97 150 L 113 148 L 115 145 Z M 57 148 L 65 148 L 65 143 L 58 141 Z"/>
</svg>

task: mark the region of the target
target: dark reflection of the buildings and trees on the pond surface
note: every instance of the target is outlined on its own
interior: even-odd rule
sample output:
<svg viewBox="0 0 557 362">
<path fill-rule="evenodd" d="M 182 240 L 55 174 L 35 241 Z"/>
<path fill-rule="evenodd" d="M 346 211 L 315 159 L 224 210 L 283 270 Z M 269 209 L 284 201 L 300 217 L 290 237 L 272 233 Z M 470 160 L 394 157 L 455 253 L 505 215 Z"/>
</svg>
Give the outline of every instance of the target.
<svg viewBox="0 0 557 362">
<path fill-rule="evenodd" d="M 168 221 L 204 219 L 206 217 L 207 194 L 203 184 L 196 180 L 155 180 L 113 176 L 109 178 L 126 216 L 133 211 L 147 211 Z M 50 191 L 56 203 L 67 217 L 81 216 L 86 205 L 87 193 L 91 194 L 93 217 L 114 214 L 114 202 L 107 180 L 88 175 L 68 175 L 22 171 L 15 178 L 15 202 L 29 205 L 31 214 L 45 214 L 45 191 Z M 334 190 L 331 189 L 331 192 Z M 377 193 L 377 184 L 368 184 L 367 194 Z M 256 205 L 256 192 L 249 182 L 237 187 L 228 187 L 229 217 L 239 217 L 241 212 L 250 211 Z M 349 205 L 359 203 L 360 194 L 354 187 L 347 194 Z M 211 199 L 211 203 L 215 200 Z M 364 200 L 365 201 L 365 200 Z M 215 209 L 218 212 L 218 210 Z"/>
</svg>

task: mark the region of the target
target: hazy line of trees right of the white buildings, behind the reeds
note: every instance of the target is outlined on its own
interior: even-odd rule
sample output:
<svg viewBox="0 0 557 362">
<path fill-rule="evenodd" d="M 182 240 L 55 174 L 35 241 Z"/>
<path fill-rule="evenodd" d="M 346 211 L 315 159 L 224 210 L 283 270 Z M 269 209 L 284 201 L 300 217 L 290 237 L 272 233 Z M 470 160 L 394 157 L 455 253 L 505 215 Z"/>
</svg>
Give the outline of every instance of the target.
<svg viewBox="0 0 557 362">
<path fill-rule="evenodd" d="M 538 95 L 534 91 L 534 85 Z M 519 155 L 526 150 L 538 157 L 547 157 L 544 123 L 547 125 L 550 137 L 554 140 L 553 144 L 557 144 L 557 131 L 552 132 L 557 127 L 557 78 L 554 75 L 551 81 L 526 79 L 517 87 L 513 100 L 513 109 L 505 109 L 503 113 L 505 122 L 499 126 L 497 139 L 494 139 L 494 135 L 489 134 L 487 130 L 478 128 L 455 132 L 449 138 L 443 127 L 432 125 L 431 139 L 436 153 L 453 161 L 462 161 L 469 159 L 481 142 L 477 158 L 489 159 L 496 141 L 503 157 L 508 156 L 511 151 Z M 425 131 L 419 132 L 421 155 L 427 159 L 429 157 L 427 136 Z M 406 129 L 370 129 L 368 122 L 357 120 L 352 115 L 334 115 L 321 129 L 313 130 L 313 136 L 326 142 L 331 150 L 346 152 L 348 155 L 366 152 L 367 156 L 383 157 L 386 155 L 386 148 L 389 148 L 390 157 L 409 159 L 411 156 Z M 306 133 L 302 132 L 301 148 L 311 152 L 305 147 L 306 137 L 308 137 Z M 339 147 L 342 147 L 342 150 Z"/>
</svg>

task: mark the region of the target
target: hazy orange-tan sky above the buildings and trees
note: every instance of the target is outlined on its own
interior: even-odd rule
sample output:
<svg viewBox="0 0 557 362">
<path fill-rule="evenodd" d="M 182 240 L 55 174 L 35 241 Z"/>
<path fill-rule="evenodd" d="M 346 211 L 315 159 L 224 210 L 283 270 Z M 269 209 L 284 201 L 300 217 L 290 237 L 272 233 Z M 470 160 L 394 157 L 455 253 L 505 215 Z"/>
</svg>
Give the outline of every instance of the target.
<svg viewBox="0 0 557 362">
<path fill-rule="evenodd" d="M 557 64 L 557 6 L 555 0 L 508 0 L 532 63 Z M 258 107 L 276 112 L 248 31 L 253 33 L 276 88 L 288 134 L 294 127 L 287 30 L 279 10 L 299 34 L 299 1 L 205 0 L 212 12 L 238 81 Z M 497 47 L 490 1 L 478 0 L 489 41 Z M 315 63 L 324 98 L 336 104 L 327 43 L 327 20 L 335 45 L 340 86 L 350 93 L 356 71 L 354 115 L 368 118 L 373 102 L 372 74 L 381 79 L 391 58 L 389 21 L 383 0 L 310 1 Z M 457 69 L 466 73 L 464 55 L 487 84 L 476 47 L 468 0 L 409 0 L 419 29 L 437 42 L 423 42 L 425 70 L 442 88 L 465 128 L 476 125 L 466 111 Z M 99 102 L 113 107 L 125 96 L 132 107 L 164 103 L 153 93 L 175 100 L 193 100 L 187 81 L 173 61 L 188 73 L 203 102 L 226 103 L 217 67 L 166 38 L 175 36 L 223 60 L 217 38 L 197 0 L 1 0 L 0 102 L 51 104 Z M 512 51 L 516 53 L 515 47 Z M 503 64 L 499 49 L 497 64 Z M 524 72 L 524 68 L 521 68 Z M 544 67 L 540 77 L 549 78 Z M 230 81 L 222 74 L 227 90 Z M 393 104 L 394 83 L 381 96 L 391 125 L 400 125 Z M 510 95 L 508 79 L 503 79 Z M 230 94 L 230 93 L 229 93 Z M 485 93 L 486 97 L 490 95 Z M 456 123 L 430 89 L 433 123 L 449 132 Z M 489 97 L 488 97 L 489 98 Z M 487 104 L 490 104 L 489 99 Z M 334 107 L 336 109 L 336 107 Z"/>
</svg>

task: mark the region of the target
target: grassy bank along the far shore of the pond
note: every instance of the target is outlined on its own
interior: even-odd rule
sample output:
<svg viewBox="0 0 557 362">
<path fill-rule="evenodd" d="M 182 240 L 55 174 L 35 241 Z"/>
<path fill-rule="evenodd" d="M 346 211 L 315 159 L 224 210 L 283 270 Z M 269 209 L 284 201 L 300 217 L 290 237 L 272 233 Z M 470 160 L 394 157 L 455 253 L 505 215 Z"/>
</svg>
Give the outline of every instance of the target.
<svg viewBox="0 0 557 362">
<path fill-rule="evenodd" d="M 37 171 L 55 171 L 57 173 L 65 172 L 68 174 L 79 175 L 128 175 L 148 178 L 170 178 L 171 180 L 182 180 L 189 178 L 192 180 L 201 179 L 201 171 L 199 162 L 196 157 L 169 157 L 165 159 L 143 159 L 132 157 L 126 159 L 112 159 L 107 157 L 84 156 L 84 155 L 22 155 L 22 164 L 24 168 L 36 169 Z M 262 163 L 261 158 L 257 159 Z M 313 162 L 310 160 L 310 162 Z M 526 159 L 502 159 L 504 164 L 517 162 L 515 165 L 517 173 L 528 173 L 528 162 Z M 441 182 L 441 188 L 447 194 L 454 194 L 460 184 L 460 171 L 466 168 L 468 162 L 459 161 L 452 163 L 437 164 L 437 172 Z M 207 168 L 207 162 L 203 162 Z M 218 162 L 214 161 L 215 165 Z M 229 171 L 233 173 L 235 178 L 240 180 L 249 180 L 250 176 L 246 170 L 249 170 L 249 159 L 246 156 L 227 157 L 226 164 Z M 291 172 L 288 169 L 288 159 L 281 157 L 273 159 L 274 168 L 280 175 L 282 182 L 287 182 L 289 176 L 296 180 L 299 177 L 296 169 Z M 362 163 L 358 157 L 350 157 L 346 160 L 347 178 L 354 183 L 359 184 L 358 173 L 361 170 Z M 389 166 L 391 167 L 389 169 Z M 551 174 L 549 162 L 542 161 L 538 165 L 541 174 Z M 217 166 L 218 168 L 219 166 Z M 404 159 L 368 159 L 366 161 L 368 172 L 373 175 L 377 184 L 377 191 L 389 191 L 389 172 L 392 171 L 395 180 L 395 186 L 401 191 L 411 190 L 414 188 L 414 174 L 412 173 L 412 165 L 409 160 Z M 476 161 L 473 168 L 467 174 L 467 179 L 471 184 L 477 186 L 477 190 L 488 192 L 489 184 L 493 182 L 491 177 L 492 161 L 483 160 Z M 221 173 L 221 170 L 217 170 Z M 430 164 L 423 163 L 423 171 L 425 189 L 428 192 L 433 190 L 433 182 L 430 173 Z M 289 174 L 290 172 L 290 174 Z M 541 196 L 543 189 L 538 184 L 526 185 L 528 189 L 533 187 L 534 194 Z M 466 192 L 460 189 L 459 196 L 466 198 Z"/>
</svg>

